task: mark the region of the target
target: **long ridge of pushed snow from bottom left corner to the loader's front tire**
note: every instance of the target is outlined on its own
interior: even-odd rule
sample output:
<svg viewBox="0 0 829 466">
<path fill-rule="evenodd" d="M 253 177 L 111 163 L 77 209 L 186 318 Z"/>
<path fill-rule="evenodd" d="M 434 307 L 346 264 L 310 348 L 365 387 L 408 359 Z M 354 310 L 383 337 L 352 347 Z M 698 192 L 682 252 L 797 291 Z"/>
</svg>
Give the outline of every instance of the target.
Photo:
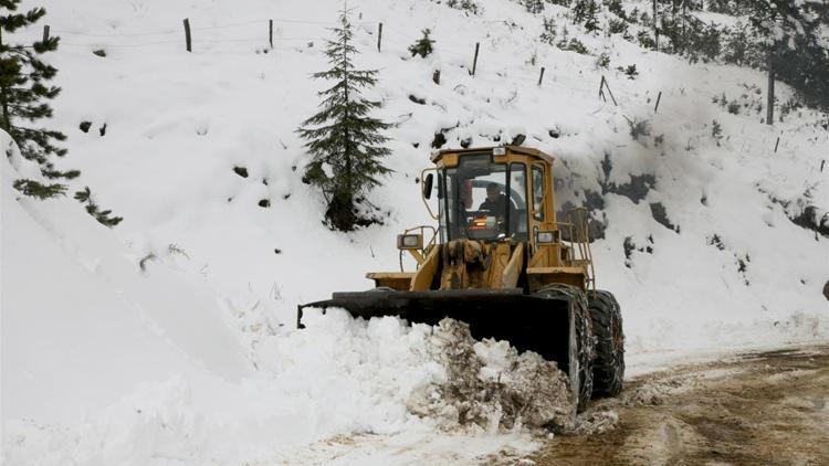
<svg viewBox="0 0 829 466">
<path fill-rule="evenodd" d="M 497 447 L 522 426 L 563 424 L 573 413 L 566 377 L 537 354 L 475 342 L 465 325 L 368 322 L 308 310 L 305 330 L 264 345 L 269 375 L 244 380 L 213 406 L 185 378 L 144 384 L 96 416 L 6 423 L 9 464 L 203 464 L 294 460 L 307 445 L 353 432 L 482 432 Z M 305 448 L 303 448 L 305 446 Z M 481 448 L 478 446 L 476 448 Z"/>
</svg>

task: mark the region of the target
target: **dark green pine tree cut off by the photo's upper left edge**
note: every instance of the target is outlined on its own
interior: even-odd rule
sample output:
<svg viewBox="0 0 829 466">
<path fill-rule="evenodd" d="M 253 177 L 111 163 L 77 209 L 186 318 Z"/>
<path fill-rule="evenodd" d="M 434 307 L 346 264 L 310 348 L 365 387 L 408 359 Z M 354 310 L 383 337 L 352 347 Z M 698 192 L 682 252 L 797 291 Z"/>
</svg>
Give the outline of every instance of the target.
<svg viewBox="0 0 829 466">
<path fill-rule="evenodd" d="M 65 140 L 66 136 L 60 131 L 31 126 L 39 119 L 52 116 L 52 108 L 46 100 L 61 92 L 60 87 L 46 84 L 57 70 L 40 59 L 40 55 L 57 50 L 60 39 L 44 36 L 31 45 L 6 43 L 4 34 L 31 27 L 46 14 L 43 8 L 17 12 L 20 1 L 0 0 L 0 128 L 14 139 L 24 158 L 40 165 L 46 178 L 72 179 L 81 172 L 55 170 L 50 161 L 53 155 L 63 157 L 66 153 L 66 149 L 53 145 L 54 140 Z M 62 184 L 44 186 L 33 180 L 22 181 L 24 182 L 17 184 L 25 187 L 21 189 L 24 193 L 41 199 L 61 195 L 65 191 L 65 187 L 56 188 Z"/>
</svg>

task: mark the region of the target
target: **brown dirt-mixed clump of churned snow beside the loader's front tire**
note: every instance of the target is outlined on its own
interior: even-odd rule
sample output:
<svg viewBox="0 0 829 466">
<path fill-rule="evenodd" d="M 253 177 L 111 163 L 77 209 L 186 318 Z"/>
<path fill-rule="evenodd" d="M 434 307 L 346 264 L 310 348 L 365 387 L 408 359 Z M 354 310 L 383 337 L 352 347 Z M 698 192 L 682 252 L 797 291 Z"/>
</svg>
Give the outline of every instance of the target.
<svg viewBox="0 0 829 466">
<path fill-rule="evenodd" d="M 518 354 L 505 341 L 475 342 L 469 326 L 443 319 L 427 350 L 445 369 L 445 380 L 409 403 L 421 415 L 473 432 L 496 433 L 521 426 L 569 427 L 575 406 L 567 375 L 534 352 Z M 464 431 L 469 432 L 469 428 Z"/>
</svg>

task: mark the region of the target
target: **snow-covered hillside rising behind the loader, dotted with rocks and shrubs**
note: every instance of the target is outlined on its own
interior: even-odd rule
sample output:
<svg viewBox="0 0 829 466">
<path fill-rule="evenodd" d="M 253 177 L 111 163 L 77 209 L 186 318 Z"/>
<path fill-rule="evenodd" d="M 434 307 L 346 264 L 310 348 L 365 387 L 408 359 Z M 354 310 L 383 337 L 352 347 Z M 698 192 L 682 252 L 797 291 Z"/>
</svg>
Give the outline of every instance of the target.
<svg viewBox="0 0 829 466">
<path fill-rule="evenodd" d="M 349 2 L 357 63 L 379 70 L 368 96 L 395 124 L 395 173 L 371 197 L 386 224 L 343 234 L 321 223 L 324 202 L 301 181 L 295 134 L 326 84 L 309 75 L 327 65 L 340 2 L 24 3 L 45 6 L 62 38 L 50 57 L 63 88 L 52 125 L 69 136 L 59 168 L 80 169 L 71 191 L 90 186 L 125 220 L 108 230 L 72 199 L 21 198 L 11 182 L 36 173 L 18 156 L 2 162 L 10 463 L 323 462 L 349 443 L 314 442 L 353 432 L 397 434 L 344 463 L 401 460 L 384 456 L 396 446 L 412 448 L 411 462 L 454 451 L 461 463 L 527 448 L 521 433 L 447 441 L 407 411 L 440 379 L 418 356 L 428 329 L 345 316 L 293 329 L 297 304 L 397 269 L 395 235 L 429 223 L 416 179 L 437 133 L 444 148 L 523 136 L 558 159 L 562 204 L 599 208 L 597 282 L 622 306 L 633 370 L 652 354 L 829 338 L 829 243 L 790 220 L 820 224 L 829 209 L 827 134 L 809 109 L 760 124 L 759 72 L 691 65 L 568 24 L 608 54 L 600 68 L 538 41 L 543 17 L 567 23 L 554 4 L 534 15 L 492 0 L 474 15 L 423 0 Z M 411 59 L 426 28 L 437 52 Z M 634 78 L 617 71 L 633 64 Z M 597 96 L 602 75 L 618 105 Z M 743 105 L 736 114 L 712 103 L 723 94 Z M 629 120 L 648 120 L 650 134 L 634 140 Z M 423 438 L 433 452 L 414 447 Z"/>
</svg>

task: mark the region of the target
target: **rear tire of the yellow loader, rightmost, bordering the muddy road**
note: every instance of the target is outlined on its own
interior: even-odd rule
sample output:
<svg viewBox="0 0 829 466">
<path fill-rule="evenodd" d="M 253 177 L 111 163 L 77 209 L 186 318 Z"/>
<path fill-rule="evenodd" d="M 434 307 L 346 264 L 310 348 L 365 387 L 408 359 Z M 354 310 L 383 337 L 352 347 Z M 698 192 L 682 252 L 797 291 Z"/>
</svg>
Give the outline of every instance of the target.
<svg viewBox="0 0 829 466">
<path fill-rule="evenodd" d="M 625 332 L 621 309 L 610 292 L 587 293 L 590 298 L 596 360 L 592 366 L 594 398 L 616 396 L 625 380 Z"/>
</svg>

